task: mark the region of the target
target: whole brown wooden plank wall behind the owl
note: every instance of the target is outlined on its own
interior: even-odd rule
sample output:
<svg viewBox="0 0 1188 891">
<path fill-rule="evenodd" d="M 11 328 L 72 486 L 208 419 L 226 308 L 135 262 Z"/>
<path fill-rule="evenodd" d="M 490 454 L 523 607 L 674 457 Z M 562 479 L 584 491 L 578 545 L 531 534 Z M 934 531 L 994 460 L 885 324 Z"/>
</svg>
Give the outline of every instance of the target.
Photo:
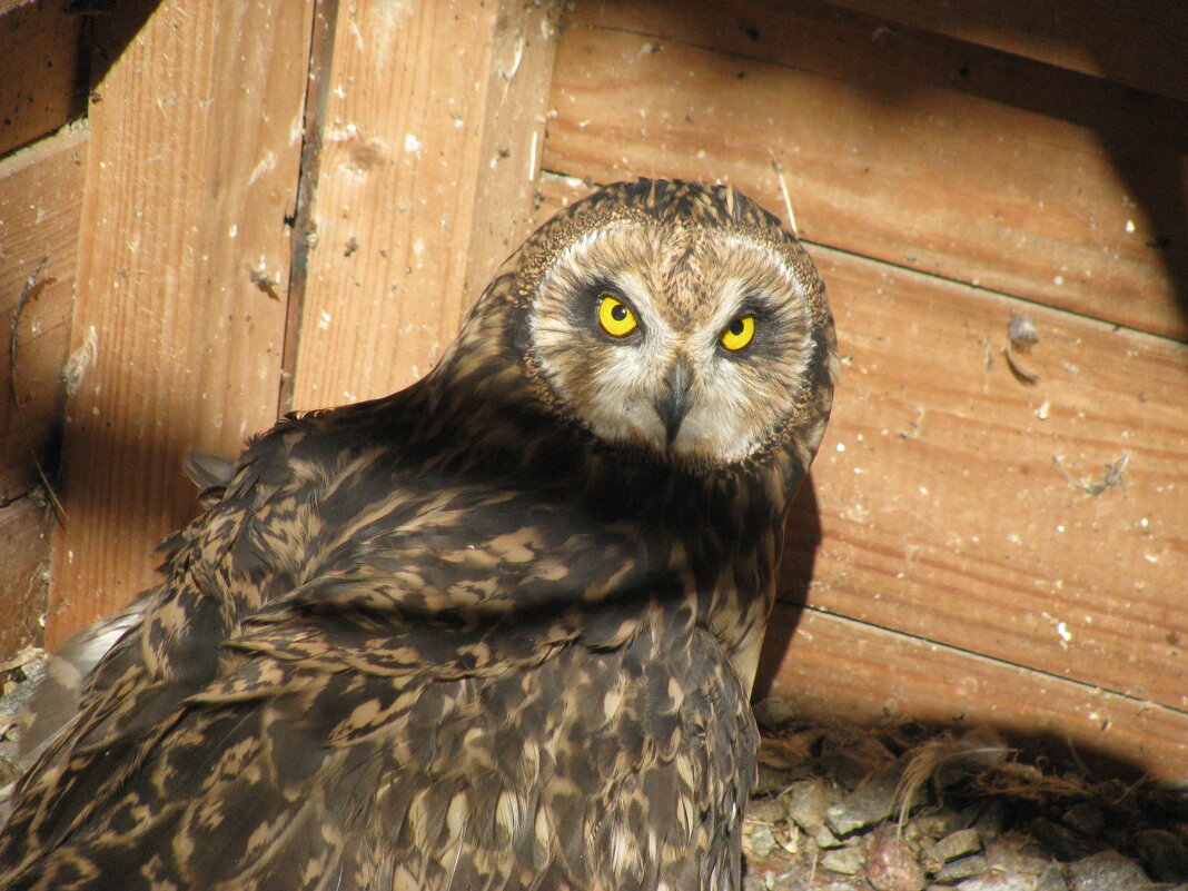
<svg viewBox="0 0 1188 891">
<path fill-rule="evenodd" d="M 1178 7 L 120 6 L 0 2 L 6 317 L 50 258 L 0 415 L 0 651 L 152 581 L 187 449 L 419 377 L 533 225 L 677 176 L 795 209 L 838 320 L 764 690 L 1188 771 Z"/>
</svg>

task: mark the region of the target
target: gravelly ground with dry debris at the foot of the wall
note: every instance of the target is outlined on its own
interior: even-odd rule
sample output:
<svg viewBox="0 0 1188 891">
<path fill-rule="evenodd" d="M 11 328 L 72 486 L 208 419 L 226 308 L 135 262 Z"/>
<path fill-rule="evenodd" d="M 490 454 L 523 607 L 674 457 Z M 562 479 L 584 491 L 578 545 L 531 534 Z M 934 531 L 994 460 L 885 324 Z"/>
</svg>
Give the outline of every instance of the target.
<svg viewBox="0 0 1188 891">
<path fill-rule="evenodd" d="M 43 671 L 36 650 L 0 664 L 0 786 Z M 756 715 L 746 891 L 1188 891 L 1188 788 L 985 729 L 809 726 L 775 699 Z"/>
</svg>

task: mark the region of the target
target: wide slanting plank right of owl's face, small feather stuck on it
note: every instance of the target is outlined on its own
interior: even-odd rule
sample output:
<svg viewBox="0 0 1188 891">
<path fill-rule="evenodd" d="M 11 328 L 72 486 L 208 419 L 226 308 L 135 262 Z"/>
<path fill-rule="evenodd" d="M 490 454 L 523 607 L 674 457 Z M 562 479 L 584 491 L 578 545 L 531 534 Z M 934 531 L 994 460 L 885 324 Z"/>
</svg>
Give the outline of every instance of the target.
<svg viewBox="0 0 1188 891">
<path fill-rule="evenodd" d="M 544 213 L 583 191 L 545 190 Z M 811 253 L 843 367 L 783 596 L 1188 709 L 1188 348 Z M 1041 339 L 1017 360 L 1032 386 L 1001 354 L 1019 311 Z M 1095 497 L 1053 462 L 1100 484 L 1124 455 Z"/>
</svg>

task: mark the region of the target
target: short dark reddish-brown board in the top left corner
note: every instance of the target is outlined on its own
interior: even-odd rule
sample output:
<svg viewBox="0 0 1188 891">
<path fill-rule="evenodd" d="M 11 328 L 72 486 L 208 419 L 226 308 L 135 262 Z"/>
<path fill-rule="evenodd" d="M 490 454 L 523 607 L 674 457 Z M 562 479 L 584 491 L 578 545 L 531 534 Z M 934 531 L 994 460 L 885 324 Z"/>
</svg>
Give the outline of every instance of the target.
<svg viewBox="0 0 1188 891">
<path fill-rule="evenodd" d="M 0 154 L 58 129 L 78 113 L 77 15 L 68 0 L 0 4 Z"/>
</svg>

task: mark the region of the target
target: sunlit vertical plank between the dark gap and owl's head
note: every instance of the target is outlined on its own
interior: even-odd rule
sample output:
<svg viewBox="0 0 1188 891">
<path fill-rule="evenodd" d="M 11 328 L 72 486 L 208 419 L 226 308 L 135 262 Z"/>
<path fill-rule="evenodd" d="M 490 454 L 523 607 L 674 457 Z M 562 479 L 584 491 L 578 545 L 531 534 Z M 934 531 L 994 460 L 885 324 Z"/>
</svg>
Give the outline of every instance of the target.
<svg viewBox="0 0 1188 891">
<path fill-rule="evenodd" d="M 526 230 L 556 8 L 343 5 L 293 407 L 428 372 Z"/>
</svg>

